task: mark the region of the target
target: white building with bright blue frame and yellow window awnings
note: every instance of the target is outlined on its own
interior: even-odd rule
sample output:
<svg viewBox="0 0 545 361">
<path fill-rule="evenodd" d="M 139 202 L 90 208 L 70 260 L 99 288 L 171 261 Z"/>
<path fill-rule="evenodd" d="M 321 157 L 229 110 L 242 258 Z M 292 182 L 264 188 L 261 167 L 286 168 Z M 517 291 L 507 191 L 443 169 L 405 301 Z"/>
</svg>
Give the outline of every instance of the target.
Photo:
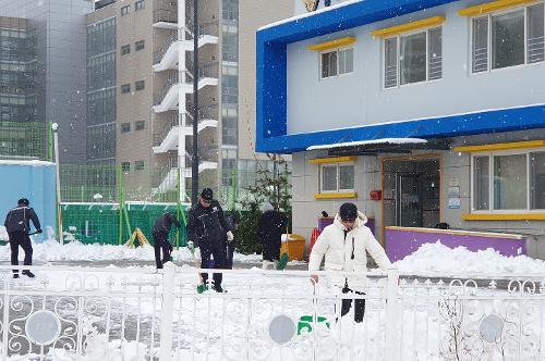
<svg viewBox="0 0 545 361">
<path fill-rule="evenodd" d="M 256 124 L 293 155 L 294 233 L 353 201 L 387 245 L 448 223 L 545 258 L 544 1 L 296 3 L 257 33 Z"/>
</svg>

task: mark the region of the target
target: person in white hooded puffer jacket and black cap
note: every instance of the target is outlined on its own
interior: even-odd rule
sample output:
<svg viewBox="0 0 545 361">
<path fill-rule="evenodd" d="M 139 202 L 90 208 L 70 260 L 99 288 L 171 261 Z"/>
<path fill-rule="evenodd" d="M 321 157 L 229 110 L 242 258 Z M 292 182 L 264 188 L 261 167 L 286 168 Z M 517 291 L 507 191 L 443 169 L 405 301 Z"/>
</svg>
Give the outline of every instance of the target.
<svg viewBox="0 0 545 361">
<path fill-rule="evenodd" d="M 390 260 L 386 256 L 384 248 L 378 244 L 365 226 L 367 217 L 358 211 L 353 203 L 343 203 L 339 213 L 335 216 L 334 223 L 324 228 L 316 239 L 308 260 L 308 271 L 318 271 L 322 259 L 325 257 L 326 271 L 358 272 L 360 276 L 341 277 L 337 284 L 342 287 L 343 294 L 365 295 L 367 277 L 367 252 L 375 260 L 378 266 L 386 271 L 391 266 Z M 317 275 L 312 275 L 315 283 Z M 354 321 L 363 321 L 365 313 L 365 300 L 354 300 Z M 352 307 L 352 299 L 343 299 L 341 316 L 349 313 Z"/>
</svg>

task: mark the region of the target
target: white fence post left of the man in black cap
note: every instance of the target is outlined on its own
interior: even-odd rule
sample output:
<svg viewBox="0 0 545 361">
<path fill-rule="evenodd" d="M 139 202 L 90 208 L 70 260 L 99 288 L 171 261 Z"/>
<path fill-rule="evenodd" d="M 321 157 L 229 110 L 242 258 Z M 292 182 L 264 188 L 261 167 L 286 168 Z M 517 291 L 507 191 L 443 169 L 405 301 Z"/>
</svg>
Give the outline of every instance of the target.
<svg viewBox="0 0 545 361">
<path fill-rule="evenodd" d="M 175 265 L 172 262 L 165 263 L 162 272 L 161 336 L 159 344 L 159 361 L 170 361 L 172 358 L 174 271 Z"/>
</svg>

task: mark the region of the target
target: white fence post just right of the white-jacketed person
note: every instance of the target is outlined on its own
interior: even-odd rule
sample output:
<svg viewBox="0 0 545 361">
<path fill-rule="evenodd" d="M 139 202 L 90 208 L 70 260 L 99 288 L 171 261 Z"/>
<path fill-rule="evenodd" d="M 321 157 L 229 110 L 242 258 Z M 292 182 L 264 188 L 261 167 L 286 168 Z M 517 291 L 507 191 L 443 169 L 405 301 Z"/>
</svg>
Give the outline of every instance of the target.
<svg viewBox="0 0 545 361">
<path fill-rule="evenodd" d="M 386 286 L 386 361 L 400 360 L 398 337 L 398 282 L 399 271 L 396 269 L 388 270 L 388 283 Z"/>
</svg>

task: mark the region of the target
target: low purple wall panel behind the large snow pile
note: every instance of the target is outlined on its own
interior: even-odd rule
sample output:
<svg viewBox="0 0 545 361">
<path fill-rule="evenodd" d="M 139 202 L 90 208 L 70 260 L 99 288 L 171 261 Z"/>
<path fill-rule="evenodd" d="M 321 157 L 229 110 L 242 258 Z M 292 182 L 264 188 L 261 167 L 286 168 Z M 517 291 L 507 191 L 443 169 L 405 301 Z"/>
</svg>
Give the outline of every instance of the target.
<svg viewBox="0 0 545 361">
<path fill-rule="evenodd" d="M 485 250 L 493 248 L 502 256 L 514 257 L 526 254 L 526 240 L 484 237 L 479 235 L 458 235 L 433 232 L 411 232 L 403 229 L 385 229 L 386 253 L 390 261 L 402 260 L 416 251 L 424 244 L 435 244 L 440 241 L 449 248 L 465 247 L 470 251 Z"/>
</svg>

